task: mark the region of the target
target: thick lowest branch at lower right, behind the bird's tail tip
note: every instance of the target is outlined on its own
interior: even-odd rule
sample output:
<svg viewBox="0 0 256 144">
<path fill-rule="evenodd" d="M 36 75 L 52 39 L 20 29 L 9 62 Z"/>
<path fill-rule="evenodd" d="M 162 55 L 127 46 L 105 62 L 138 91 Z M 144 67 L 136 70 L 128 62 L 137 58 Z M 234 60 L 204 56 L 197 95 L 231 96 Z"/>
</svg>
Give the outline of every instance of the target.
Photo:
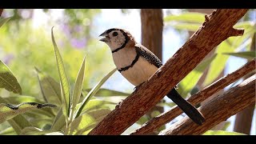
<svg viewBox="0 0 256 144">
<path fill-rule="evenodd" d="M 247 106 L 255 103 L 255 76 L 247 78 L 244 82 L 226 93 L 213 98 L 206 105 L 199 108 L 204 114 L 206 122 L 198 126 L 190 120 L 183 118 L 180 122 L 175 123 L 168 130 L 162 131 L 164 135 L 183 135 L 183 134 L 203 134 L 219 122 L 225 121 L 230 116 L 237 114 Z"/>
</svg>

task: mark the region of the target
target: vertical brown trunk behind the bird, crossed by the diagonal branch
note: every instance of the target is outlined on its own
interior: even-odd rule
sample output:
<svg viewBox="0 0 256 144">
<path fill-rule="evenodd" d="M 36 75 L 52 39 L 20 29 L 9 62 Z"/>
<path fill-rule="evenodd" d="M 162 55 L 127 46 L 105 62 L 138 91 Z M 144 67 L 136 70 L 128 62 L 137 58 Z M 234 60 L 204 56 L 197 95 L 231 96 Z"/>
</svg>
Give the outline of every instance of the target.
<svg viewBox="0 0 256 144">
<path fill-rule="evenodd" d="M 142 45 L 146 46 L 162 61 L 162 9 L 142 9 L 140 15 L 142 22 Z M 153 109 L 146 113 L 148 118 L 153 118 L 151 114 L 155 110 L 160 112 L 160 114 L 164 111 L 162 106 L 154 106 Z M 152 132 L 150 134 L 155 133 Z"/>
</svg>

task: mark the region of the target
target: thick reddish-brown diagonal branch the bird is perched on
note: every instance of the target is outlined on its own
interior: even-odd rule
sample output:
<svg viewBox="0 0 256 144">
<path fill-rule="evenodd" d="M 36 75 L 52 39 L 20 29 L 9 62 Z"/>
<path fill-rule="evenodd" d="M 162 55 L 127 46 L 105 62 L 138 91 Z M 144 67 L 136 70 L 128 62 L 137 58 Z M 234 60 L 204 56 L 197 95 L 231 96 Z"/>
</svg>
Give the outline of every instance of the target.
<svg viewBox="0 0 256 144">
<path fill-rule="evenodd" d="M 217 10 L 164 66 L 110 112 L 89 134 L 122 134 L 156 105 L 199 62 L 228 38 L 228 32 L 247 9 Z"/>
</svg>

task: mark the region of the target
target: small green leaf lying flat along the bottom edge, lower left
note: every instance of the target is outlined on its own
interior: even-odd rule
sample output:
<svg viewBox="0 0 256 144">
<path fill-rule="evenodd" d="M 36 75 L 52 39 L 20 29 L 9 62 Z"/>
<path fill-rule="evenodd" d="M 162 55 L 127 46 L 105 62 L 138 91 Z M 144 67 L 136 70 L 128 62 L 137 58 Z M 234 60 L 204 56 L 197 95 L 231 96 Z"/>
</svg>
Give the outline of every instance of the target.
<svg viewBox="0 0 256 144">
<path fill-rule="evenodd" d="M 21 135 L 43 135 L 43 134 L 49 134 L 54 133 L 56 130 L 41 130 L 37 127 L 26 127 L 22 130 Z"/>
</svg>

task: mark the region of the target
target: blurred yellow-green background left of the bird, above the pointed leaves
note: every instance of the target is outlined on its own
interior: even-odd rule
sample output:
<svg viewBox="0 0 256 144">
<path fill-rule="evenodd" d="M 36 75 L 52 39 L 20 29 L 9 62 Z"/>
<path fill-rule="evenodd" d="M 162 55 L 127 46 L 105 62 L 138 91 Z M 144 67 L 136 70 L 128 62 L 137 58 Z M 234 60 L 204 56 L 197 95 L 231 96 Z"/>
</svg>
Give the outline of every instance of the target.
<svg viewBox="0 0 256 144">
<path fill-rule="evenodd" d="M 53 10 L 44 10 L 51 16 Z M 86 55 L 86 79 L 84 88 L 98 82 L 100 76 L 114 68 L 111 59 L 106 57 L 107 49 L 91 38 L 94 29 L 93 18 L 100 10 L 64 10 L 63 19 L 57 19 L 55 37 L 66 64 L 70 82 L 74 83 L 78 67 Z M 58 81 L 58 70 L 54 59 L 50 29 L 54 24 L 34 28 L 32 24 L 34 10 L 5 10 L 3 17 L 12 16 L 10 22 L 0 29 L 0 58 L 10 67 L 22 86 L 23 94 L 39 95 L 37 74 L 34 66 L 46 72 Z M 54 23 L 49 18 L 49 23 Z M 48 23 L 48 22 L 47 22 Z M 8 35 L 8 36 L 7 36 Z M 1 90 L 3 95 L 9 94 Z M 0 93 L 1 94 L 1 93 Z"/>
</svg>

